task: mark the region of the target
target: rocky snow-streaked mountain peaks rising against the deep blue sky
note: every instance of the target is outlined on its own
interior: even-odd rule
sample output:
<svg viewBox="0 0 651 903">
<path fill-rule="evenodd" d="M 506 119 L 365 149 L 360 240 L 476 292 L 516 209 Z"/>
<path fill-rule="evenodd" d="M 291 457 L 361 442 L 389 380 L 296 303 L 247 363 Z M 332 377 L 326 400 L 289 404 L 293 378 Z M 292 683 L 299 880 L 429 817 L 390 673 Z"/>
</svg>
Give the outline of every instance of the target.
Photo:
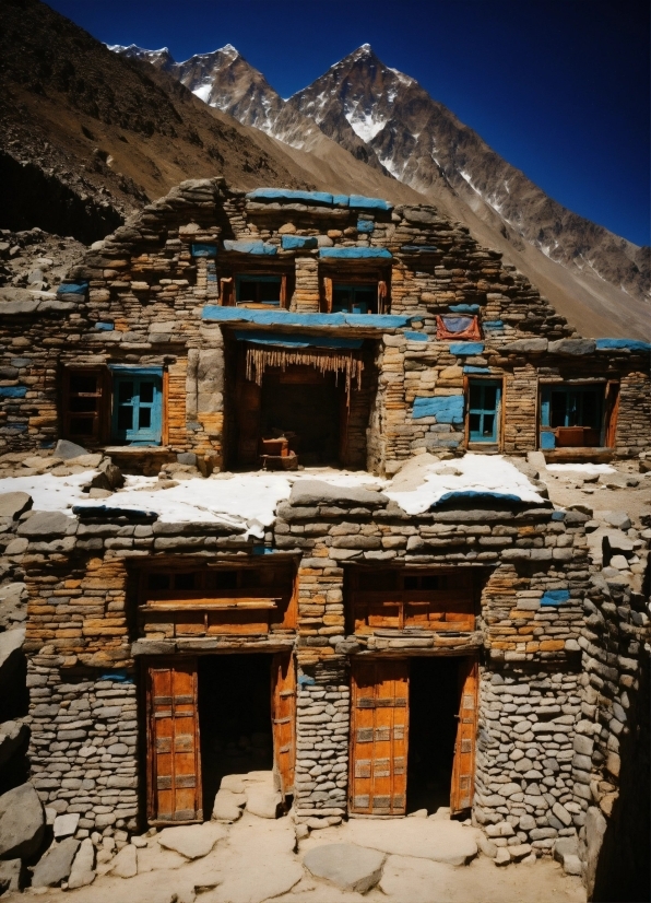
<svg viewBox="0 0 651 903">
<path fill-rule="evenodd" d="M 317 126 L 501 250 L 583 331 L 648 336 L 649 249 L 549 198 L 369 45 L 287 101 L 230 45 L 182 63 L 166 48 L 119 49 L 166 67 L 213 107 L 293 148 L 312 153 Z"/>
</svg>

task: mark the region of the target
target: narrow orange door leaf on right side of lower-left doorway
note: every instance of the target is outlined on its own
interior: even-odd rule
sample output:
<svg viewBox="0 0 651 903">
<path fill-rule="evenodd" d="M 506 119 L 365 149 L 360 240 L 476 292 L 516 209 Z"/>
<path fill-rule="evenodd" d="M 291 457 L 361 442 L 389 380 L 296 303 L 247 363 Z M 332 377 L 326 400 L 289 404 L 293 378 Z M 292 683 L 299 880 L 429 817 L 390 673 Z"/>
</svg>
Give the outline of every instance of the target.
<svg viewBox="0 0 651 903">
<path fill-rule="evenodd" d="M 277 653 L 272 658 L 271 719 L 273 766 L 285 796 L 294 791 L 296 761 L 296 671 L 291 652 Z"/>
</svg>

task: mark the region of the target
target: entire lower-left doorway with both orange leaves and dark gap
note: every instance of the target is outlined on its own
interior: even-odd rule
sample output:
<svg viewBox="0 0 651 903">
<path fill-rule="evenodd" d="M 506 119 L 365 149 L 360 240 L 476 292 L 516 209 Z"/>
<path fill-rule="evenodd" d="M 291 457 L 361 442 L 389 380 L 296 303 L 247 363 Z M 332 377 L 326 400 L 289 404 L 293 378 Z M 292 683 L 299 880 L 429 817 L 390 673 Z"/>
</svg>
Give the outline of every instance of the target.
<svg viewBox="0 0 651 903">
<path fill-rule="evenodd" d="M 210 818 L 226 774 L 274 773 L 294 790 L 292 650 L 151 660 L 147 688 L 147 819 Z"/>
</svg>

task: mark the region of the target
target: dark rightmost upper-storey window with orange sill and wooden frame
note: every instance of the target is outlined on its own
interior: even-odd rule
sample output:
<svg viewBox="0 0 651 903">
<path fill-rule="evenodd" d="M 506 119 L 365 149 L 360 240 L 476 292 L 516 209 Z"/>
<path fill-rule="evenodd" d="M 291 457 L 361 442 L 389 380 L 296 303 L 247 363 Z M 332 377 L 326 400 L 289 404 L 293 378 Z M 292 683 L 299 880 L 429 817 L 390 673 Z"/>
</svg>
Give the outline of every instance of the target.
<svg viewBox="0 0 651 903">
<path fill-rule="evenodd" d="M 602 444 L 605 386 L 549 385 L 541 394 L 541 448 Z"/>
</svg>

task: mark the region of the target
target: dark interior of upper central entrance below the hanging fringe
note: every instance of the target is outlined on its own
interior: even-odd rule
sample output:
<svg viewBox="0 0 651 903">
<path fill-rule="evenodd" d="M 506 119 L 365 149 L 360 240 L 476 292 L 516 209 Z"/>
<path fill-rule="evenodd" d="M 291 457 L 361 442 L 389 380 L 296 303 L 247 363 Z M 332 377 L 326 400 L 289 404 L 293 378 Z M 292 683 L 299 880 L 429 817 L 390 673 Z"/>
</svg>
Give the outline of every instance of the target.
<svg viewBox="0 0 651 903">
<path fill-rule="evenodd" d="M 344 374 L 338 386 L 333 373 L 309 366 L 268 370 L 262 380 L 262 438 L 285 436 L 303 466 L 336 465 L 344 383 Z"/>
</svg>

